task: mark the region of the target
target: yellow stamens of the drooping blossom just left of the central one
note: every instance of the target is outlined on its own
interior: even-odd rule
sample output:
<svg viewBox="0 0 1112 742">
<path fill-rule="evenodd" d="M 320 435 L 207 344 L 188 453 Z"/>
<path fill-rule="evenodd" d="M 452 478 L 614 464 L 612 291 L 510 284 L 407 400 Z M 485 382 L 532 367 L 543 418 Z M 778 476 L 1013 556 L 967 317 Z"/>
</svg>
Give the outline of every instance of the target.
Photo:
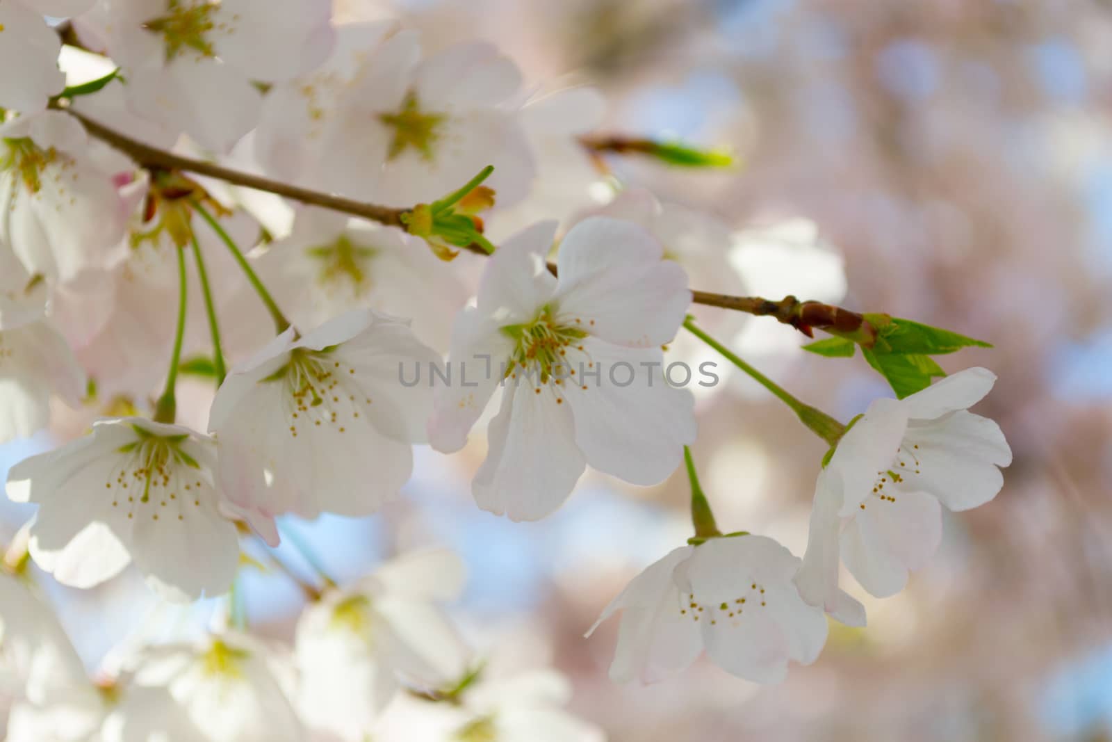
<svg viewBox="0 0 1112 742">
<path fill-rule="evenodd" d="M 301 429 L 324 426 L 346 433 L 361 417 L 364 406 L 371 404 L 354 376 L 355 368 L 327 350 L 296 348 L 289 363 L 269 379 L 286 385 L 289 434 L 296 438 Z"/>
</svg>

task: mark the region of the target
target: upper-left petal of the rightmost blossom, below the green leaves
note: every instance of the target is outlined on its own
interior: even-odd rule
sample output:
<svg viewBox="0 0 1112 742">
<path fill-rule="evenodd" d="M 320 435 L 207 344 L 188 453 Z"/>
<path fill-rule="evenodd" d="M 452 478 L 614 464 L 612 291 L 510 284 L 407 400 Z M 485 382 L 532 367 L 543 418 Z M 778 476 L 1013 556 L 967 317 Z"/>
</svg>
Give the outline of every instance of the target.
<svg viewBox="0 0 1112 742">
<path fill-rule="evenodd" d="M 827 468 L 842 478 L 843 517 L 853 515 L 870 497 L 878 473 L 892 465 L 906 429 L 906 409 L 895 399 L 881 398 L 838 441 Z"/>
</svg>

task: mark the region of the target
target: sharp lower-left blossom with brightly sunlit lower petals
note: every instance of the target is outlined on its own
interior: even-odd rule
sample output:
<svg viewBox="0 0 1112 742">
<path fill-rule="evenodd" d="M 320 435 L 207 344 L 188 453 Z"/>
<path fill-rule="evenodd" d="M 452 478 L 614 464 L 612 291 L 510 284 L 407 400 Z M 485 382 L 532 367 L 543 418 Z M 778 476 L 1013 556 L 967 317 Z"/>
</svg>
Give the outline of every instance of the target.
<svg viewBox="0 0 1112 742">
<path fill-rule="evenodd" d="M 167 600 L 228 590 L 239 564 L 235 525 L 212 486 L 211 441 L 178 425 L 101 419 L 92 432 L 27 458 L 8 496 L 38 503 L 30 552 L 58 582 L 91 587 L 135 561 Z"/>
</svg>

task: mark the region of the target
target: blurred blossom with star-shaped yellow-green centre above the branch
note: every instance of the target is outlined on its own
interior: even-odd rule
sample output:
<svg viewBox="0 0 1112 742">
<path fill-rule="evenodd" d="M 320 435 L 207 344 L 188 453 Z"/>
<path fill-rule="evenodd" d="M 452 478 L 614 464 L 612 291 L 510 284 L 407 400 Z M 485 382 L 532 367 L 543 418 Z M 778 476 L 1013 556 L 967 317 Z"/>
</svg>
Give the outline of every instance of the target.
<svg viewBox="0 0 1112 742">
<path fill-rule="evenodd" d="M 519 87 L 517 67 L 489 44 L 423 60 L 417 34 L 400 31 L 366 58 L 328 115 L 320 172 L 335 190 L 407 207 L 493 165 L 485 185 L 508 205 L 534 172 L 513 102 Z"/>
</svg>

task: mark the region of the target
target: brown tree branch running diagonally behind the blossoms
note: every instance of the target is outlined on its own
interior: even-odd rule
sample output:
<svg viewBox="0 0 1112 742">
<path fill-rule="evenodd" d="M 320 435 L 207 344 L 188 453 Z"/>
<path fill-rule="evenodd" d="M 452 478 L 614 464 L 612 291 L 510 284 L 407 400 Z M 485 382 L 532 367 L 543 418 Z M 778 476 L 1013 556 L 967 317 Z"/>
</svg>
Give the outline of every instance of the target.
<svg viewBox="0 0 1112 742">
<path fill-rule="evenodd" d="M 68 110 L 80 119 L 90 135 L 125 152 L 142 167 L 161 170 L 182 170 L 208 176 L 237 186 L 285 196 L 302 204 L 320 206 L 334 211 L 370 219 L 387 227 L 405 228 L 401 216 L 408 209 L 393 209 L 375 204 L 356 201 L 350 198 L 290 186 L 249 172 L 232 170 L 231 168 L 221 167 L 205 160 L 181 157 L 173 152 L 145 145 L 127 135 L 102 126 L 72 109 Z M 612 148 L 612 151 L 620 150 Z M 479 255 L 487 255 L 486 250 L 479 245 L 469 245 L 467 249 Z M 548 264 L 548 269 L 554 275 L 556 274 L 556 266 L 554 264 Z M 812 336 L 813 329 L 821 329 L 834 335 L 850 337 L 865 347 L 872 346 L 876 339 L 875 328 L 862 315 L 820 301 L 800 301 L 794 296 L 785 297 L 780 301 L 771 301 L 759 296 L 731 296 L 728 294 L 692 290 L 692 301 L 694 304 L 733 309 L 756 316 L 774 317 L 777 321 L 791 325 L 808 337 Z"/>
</svg>

